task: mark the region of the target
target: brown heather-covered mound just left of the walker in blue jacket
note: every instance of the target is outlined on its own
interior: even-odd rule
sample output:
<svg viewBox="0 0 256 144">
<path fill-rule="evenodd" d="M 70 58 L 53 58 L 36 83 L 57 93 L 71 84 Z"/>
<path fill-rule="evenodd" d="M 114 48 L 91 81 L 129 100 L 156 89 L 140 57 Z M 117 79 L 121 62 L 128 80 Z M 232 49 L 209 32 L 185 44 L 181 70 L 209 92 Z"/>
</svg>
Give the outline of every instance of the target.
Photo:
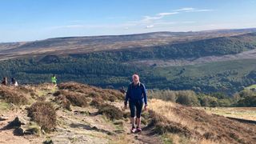
<svg viewBox="0 0 256 144">
<path fill-rule="evenodd" d="M 107 102 L 118 102 L 123 100 L 124 95 L 118 90 L 101 89 L 95 86 L 88 86 L 77 82 L 61 83 L 59 90 L 54 93 L 55 100 L 62 103 L 62 107 L 70 110 L 73 106 L 95 106 L 101 108 Z"/>
</svg>

